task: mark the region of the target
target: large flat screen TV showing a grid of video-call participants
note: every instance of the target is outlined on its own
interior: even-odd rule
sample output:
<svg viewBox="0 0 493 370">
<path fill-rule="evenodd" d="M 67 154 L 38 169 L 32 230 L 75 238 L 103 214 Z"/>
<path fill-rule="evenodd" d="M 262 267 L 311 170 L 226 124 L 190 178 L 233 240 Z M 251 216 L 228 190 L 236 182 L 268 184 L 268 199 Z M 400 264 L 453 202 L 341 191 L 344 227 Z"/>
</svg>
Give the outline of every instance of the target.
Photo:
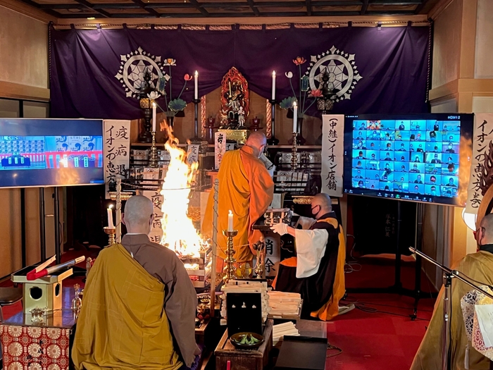
<svg viewBox="0 0 493 370">
<path fill-rule="evenodd" d="M 464 206 L 473 114 L 346 116 L 344 192 Z"/>
</svg>

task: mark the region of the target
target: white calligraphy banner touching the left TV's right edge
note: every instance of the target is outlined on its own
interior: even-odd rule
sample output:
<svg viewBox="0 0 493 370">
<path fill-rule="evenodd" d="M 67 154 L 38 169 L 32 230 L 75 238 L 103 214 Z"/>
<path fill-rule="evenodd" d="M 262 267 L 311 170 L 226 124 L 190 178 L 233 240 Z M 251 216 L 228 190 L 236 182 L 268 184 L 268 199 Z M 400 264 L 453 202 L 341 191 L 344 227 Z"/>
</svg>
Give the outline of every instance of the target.
<svg viewBox="0 0 493 370">
<path fill-rule="evenodd" d="M 125 176 L 130 159 L 130 121 L 104 120 L 104 184 L 106 199 L 109 183 Z"/>
</svg>

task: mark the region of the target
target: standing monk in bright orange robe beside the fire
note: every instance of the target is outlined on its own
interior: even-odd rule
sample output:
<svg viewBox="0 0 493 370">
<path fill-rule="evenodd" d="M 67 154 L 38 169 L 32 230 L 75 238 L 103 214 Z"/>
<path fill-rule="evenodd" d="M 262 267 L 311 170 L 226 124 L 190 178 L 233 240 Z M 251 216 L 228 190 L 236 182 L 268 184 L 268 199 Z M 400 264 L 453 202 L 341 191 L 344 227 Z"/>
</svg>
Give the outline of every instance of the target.
<svg viewBox="0 0 493 370">
<path fill-rule="evenodd" d="M 241 149 L 224 154 L 218 179 L 218 264 L 217 271 L 223 270 L 227 238 L 227 214 L 232 211 L 233 228 L 238 235 L 233 238 L 237 264 L 244 264 L 254 257 L 253 245 L 263 238 L 260 230 L 251 226 L 267 210 L 274 194 L 274 182 L 266 166 L 259 159 L 267 145 L 266 135 L 253 132 Z M 208 197 L 202 233 L 208 238 L 213 231 L 214 189 Z"/>
</svg>

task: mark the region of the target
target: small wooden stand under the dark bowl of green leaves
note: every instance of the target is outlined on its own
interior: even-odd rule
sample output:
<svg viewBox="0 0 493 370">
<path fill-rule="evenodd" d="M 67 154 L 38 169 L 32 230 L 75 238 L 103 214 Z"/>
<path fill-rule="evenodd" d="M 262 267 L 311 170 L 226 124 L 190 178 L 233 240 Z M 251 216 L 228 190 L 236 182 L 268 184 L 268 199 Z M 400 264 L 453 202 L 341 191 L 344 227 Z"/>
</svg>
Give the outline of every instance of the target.
<svg viewBox="0 0 493 370">
<path fill-rule="evenodd" d="M 216 370 L 226 370 L 227 362 L 231 362 L 231 370 L 263 370 L 269 362 L 272 350 L 273 320 L 268 320 L 263 330 L 264 342 L 256 350 L 237 350 L 231 343 L 227 331 L 216 347 Z"/>
</svg>

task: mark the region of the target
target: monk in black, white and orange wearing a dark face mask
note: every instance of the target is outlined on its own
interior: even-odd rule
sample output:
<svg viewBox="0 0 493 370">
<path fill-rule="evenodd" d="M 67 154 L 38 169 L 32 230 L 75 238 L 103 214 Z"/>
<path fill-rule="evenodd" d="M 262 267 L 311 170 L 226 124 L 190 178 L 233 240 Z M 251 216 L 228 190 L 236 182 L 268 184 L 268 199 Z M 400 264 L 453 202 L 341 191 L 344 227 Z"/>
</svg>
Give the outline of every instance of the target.
<svg viewBox="0 0 493 370">
<path fill-rule="evenodd" d="M 299 218 L 297 225 L 302 230 L 285 223 L 271 228 L 280 235 L 294 236 L 297 249 L 297 257 L 280 263 L 273 288 L 299 293 L 303 300 L 302 315 L 327 321 L 339 314 L 339 301 L 345 293 L 346 244 L 327 194 L 313 197 L 311 212 L 315 219 Z"/>
</svg>

